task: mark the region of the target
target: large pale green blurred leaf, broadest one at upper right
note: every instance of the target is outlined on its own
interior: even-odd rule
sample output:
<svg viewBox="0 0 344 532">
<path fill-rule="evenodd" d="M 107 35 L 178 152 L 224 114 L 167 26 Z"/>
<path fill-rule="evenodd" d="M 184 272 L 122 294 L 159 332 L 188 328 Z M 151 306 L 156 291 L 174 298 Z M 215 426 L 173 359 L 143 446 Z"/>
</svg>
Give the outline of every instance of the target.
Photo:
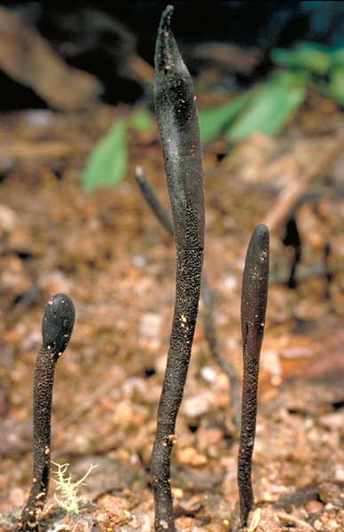
<svg viewBox="0 0 344 532">
<path fill-rule="evenodd" d="M 228 130 L 233 141 L 253 133 L 275 135 L 290 121 L 306 97 L 308 77 L 281 72 L 254 90 L 247 106 Z"/>
</svg>

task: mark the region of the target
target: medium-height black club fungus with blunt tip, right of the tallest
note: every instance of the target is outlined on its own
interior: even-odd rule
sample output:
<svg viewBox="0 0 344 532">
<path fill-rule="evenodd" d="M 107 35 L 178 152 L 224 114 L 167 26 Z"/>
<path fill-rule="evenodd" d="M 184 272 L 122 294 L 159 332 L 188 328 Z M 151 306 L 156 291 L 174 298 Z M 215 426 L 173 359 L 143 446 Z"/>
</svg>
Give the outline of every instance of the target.
<svg viewBox="0 0 344 532">
<path fill-rule="evenodd" d="M 252 454 L 257 416 L 259 358 L 265 325 L 269 283 L 269 230 L 257 225 L 248 244 L 241 293 L 241 332 L 244 377 L 241 403 L 241 434 L 238 450 L 238 491 L 241 526 L 254 503 Z"/>
</svg>

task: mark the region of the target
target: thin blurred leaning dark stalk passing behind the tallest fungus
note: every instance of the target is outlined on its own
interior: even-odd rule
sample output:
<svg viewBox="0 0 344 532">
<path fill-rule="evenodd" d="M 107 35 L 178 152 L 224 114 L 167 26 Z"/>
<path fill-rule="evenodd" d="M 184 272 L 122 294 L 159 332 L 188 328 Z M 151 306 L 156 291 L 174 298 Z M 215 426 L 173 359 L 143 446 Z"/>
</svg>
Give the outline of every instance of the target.
<svg viewBox="0 0 344 532">
<path fill-rule="evenodd" d="M 159 220 L 160 224 L 173 236 L 173 222 L 168 209 L 161 203 L 158 198 L 152 184 L 145 176 L 145 170 L 141 167 L 135 168 L 135 178 L 137 180 L 138 187 L 145 198 L 145 201 L 151 207 L 152 213 Z M 207 282 L 206 273 L 203 271 L 202 282 L 200 286 L 201 298 L 204 303 L 203 310 L 203 325 L 205 337 L 209 347 L 209 351 L 213 356 L 215 363 L 222 369 L 227 375 L 230 382 L 230 403 L 231 403 L 231 418 L 233 426 L 235 427 L 236 435 L 238 435 L 240 429 L 240 393 L 238 384 L 238 374 L 223 356 L 220 354 L 219 342 L 217 340 L 217 334 L 215 329 L 215 301 L 214 295 Z"/>
</svg>

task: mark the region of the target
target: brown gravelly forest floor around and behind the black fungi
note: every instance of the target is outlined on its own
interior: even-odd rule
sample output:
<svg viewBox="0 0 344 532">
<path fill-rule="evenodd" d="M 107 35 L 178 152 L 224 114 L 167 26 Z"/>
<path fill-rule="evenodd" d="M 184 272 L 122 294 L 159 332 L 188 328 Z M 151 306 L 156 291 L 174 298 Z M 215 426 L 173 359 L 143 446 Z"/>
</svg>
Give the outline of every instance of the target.
<svg viewBox="0 0 344 532">
<path fill-rule="evenodd" d="M 43 529 L 149 532 L 149 463 L 175 291 L 173 242 L 141 198 L 141 165 L 168 206 L 157 133 L 130 140 L 116 188 L 82 192 L 95 142 L 125 110 L 9 113 L 0 119 L 0 528 L 13 527 L 32 469 L 35 355 L 43 306 L 59 292 L 76 324 L 57 364 L 51 458 L 75 479 L 90 464 L 79 515 L 54 501 Z M 246 246 L 278 194 L 317 164 L 342 114 L 310 98 L 280 137 L 251 137 L 224 158 L 205 149 L 205 270 L 215 291 L 221 353 L 241 378 L 240 290 Z M 344 155 L 309 187 L 295 212 L 296 286 L 285 224 L 271 233 L 270 293 L 262 346 L 250 532 L 344 530 Z M 292 224 L 289 242 L 297 242 Z M 296 236 L 295 236 L 296 234 Z M 199 308 L 201 318 L 202 303 Z M 238 434 L 229 383 L 199 319 L 176 427 L 172 487 L 177 530 L 224 532 L 238 504 Z M 52 466 L 52 471 L 56 466 Z M 58 494 L 59 495 L 59 494 Z M 52 523 L 52 524 L 51 524 Z"/>
</svg>

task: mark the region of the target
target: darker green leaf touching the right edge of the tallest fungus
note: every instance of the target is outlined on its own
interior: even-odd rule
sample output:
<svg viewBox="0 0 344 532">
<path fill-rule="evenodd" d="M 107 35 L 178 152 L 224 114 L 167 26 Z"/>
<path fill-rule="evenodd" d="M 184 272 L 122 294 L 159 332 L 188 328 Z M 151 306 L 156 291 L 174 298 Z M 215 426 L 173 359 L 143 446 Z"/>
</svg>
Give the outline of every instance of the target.
<svg viewBox="0 0 344 532">
<path fill-rule="evenodd" d="M 228 129 L 231 121 L 246 105 L 246 102 L 250 97 L 251 91 L 248 91 L 222 106 L 215 106 L 200 111 L 199 129 L 202 142 L 209 142 L 214 138 L 220 137 L 220 135 Z"/>
</svg>

